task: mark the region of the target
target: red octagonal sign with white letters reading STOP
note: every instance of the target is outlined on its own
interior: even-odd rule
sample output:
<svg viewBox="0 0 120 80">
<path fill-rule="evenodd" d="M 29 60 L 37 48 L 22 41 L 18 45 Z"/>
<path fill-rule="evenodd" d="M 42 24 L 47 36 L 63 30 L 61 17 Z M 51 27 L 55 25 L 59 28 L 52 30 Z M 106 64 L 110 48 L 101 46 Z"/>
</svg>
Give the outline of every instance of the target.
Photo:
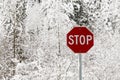
<svg viewBox="0 0 120 80">
<path fill-rule="evenodd" d="M 94 45 L 94 36 L 86 27 L 74 27 L 67 34 L 67 46 L 75 53 L 86 53 Z"/>
</svg>

